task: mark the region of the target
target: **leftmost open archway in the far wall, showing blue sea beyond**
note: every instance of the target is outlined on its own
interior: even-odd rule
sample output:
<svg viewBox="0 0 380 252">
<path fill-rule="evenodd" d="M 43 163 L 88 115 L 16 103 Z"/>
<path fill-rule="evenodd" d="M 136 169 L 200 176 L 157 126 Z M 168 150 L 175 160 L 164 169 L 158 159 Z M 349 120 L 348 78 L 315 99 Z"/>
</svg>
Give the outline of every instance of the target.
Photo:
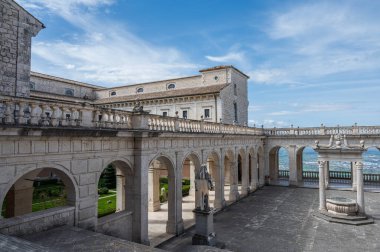
<svg viewBox="0 0 380 252">
<path fill-rule="evenodd" d="M 289 185 L 289 153 L 281 146 L 269 151 L 269 184 Z"/>
</svg>

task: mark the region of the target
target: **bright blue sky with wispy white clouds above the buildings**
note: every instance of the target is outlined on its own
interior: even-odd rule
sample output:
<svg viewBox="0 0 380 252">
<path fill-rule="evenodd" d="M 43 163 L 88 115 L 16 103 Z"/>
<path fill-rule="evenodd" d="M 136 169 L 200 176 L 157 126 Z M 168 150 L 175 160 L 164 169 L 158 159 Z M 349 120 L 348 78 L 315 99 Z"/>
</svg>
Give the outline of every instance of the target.
<svg viewBox="0 0 380 252">
<path fill-rule="evenodd" d="M 103 86 L 234 65 L 250 125 L 379 125 L 380 1 L 18 0 L 34 71 Z"/>
</svg>

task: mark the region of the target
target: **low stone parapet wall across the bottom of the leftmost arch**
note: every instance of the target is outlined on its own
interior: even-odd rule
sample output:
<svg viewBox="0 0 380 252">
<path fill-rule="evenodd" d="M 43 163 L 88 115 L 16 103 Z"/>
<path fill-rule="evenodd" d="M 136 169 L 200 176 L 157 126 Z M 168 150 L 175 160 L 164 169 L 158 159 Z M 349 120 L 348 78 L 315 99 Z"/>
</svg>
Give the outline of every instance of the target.
<svg viewBox="0 0 380 252">
<path fill-rule="evenodd" d="M 21 236 L 63 225 L 74 225 L 75 207 L 57 207 L 0 221 L 0 233 Z"/>
</svg>

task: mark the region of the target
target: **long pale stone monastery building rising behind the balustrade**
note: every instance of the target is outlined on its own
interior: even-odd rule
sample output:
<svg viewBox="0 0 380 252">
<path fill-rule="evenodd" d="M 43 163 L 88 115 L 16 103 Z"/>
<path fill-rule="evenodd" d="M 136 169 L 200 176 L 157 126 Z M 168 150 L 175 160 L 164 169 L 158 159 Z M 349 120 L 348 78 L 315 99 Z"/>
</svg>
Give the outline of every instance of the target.
<svg viewBox="0 0 380 252">
<path fill-rule="evenodd" d="M 246 125 L 248 76 L 233 66 L 200 70 L 200 75 L 135 85 L 103 88 L 41 73 L 31 73 L 30 96 L 90 102 L 132 111 L 136 101 L 144 111 L 169 117 Z"/>
</svg>

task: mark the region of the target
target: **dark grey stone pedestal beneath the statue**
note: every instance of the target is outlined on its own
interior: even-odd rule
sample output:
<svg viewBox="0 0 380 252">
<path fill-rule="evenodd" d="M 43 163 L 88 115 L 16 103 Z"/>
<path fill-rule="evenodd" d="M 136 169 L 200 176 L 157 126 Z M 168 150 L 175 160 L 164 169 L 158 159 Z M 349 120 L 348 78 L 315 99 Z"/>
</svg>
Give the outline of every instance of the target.
<svg viewBox="0 0 380 252">
<path fill-rule="evenodd" d="M 194 209 L 195 235 L 193 245 L 216 246 L 216 235 L 214 233 L 214 213 L 212 209 Z"/>
</svg>

